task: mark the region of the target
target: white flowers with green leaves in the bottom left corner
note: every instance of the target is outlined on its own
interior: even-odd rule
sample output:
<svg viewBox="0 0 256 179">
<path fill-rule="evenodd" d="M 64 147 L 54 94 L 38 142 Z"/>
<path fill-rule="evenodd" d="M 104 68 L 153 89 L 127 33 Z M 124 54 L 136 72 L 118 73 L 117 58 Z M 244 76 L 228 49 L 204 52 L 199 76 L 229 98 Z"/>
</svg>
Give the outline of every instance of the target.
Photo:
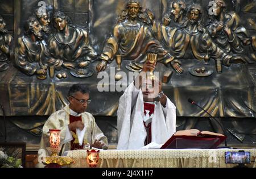
<svg viewBox="0 0 256 179">
<path fill-rule="evenodd" d="M 21 159 L 8 156 L 5 152 L 0 150 L 0 168 L 22 168 L 21 164 Z"/>
</svg>

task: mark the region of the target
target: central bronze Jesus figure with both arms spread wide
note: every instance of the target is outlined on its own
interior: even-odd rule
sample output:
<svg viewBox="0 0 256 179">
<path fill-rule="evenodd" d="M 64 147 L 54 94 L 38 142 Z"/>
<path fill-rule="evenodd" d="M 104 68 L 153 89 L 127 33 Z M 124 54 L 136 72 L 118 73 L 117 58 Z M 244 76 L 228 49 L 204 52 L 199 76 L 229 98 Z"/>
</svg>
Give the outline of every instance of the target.
<svg viewBox="0 0 256 179">
<path fill-rule="evenodd" d="M 96 69 L 98 72 L 105 70 L 106 65 L 114 60 L 115 55 L 121 55 L 123 59 L 134 63 L 144 63 L 147 52 L 158 53 L 158 61 L 171 66 L 177 73 L 182 73 L 178 61 L 168 53 L 148 26 L 146 14 L 138 2 L 130 1 L 119 16 L 118 23 L 113 29 L 113 36 L 106 40 L 104 49 L 100 55 L 101 62 Z M 140 68 L 139 65 L 132 68 Z"/>
</svg>

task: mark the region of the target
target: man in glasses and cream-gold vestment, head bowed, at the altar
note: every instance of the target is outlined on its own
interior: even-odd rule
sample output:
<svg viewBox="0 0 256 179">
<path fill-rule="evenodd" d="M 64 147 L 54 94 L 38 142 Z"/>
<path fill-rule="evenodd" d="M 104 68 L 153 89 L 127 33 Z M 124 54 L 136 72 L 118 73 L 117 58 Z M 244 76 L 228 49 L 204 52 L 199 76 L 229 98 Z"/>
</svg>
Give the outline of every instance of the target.
<svg viewBox="0 0 256 179">
<path fill-rule="evenodd" d="M 69 105 L 49 116 L 44 124 L 40 149 L 45 149 L 46 156 L 51 154 L 48 151 L 50 129 L 61 130 L 60 155 L 64 151 L 83 149 L 86 143 L 94 148 L 108 145 L 108 139 L 97 126 L 93 115 L 85 112 L 91 100 L 89 89 L 79 84 L 73 85 L 68 91 L 68 99 Z M 82 141 L 79 141 L 77 131 L 80 134 L 84 132 Z"/>
</svg>

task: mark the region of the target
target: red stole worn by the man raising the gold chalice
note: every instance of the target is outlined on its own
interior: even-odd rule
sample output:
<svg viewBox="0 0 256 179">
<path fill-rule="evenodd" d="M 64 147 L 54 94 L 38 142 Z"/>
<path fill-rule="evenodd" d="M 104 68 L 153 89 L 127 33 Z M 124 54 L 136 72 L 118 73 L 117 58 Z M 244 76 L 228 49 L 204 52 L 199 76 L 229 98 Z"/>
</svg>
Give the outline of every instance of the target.
<svg viewBox="0 0 256 179">
<path fill-rule="evenodd" d="M 146 110 L 150 111 L 149 115 L 154 114 L 155 111 L 155 105 L 154 104 L 150 104 L 150 103 L 145 103 L 144 102 L 144 115 L 146 115 Z M 148 125 L 146 126 L 146 123 L 143 121 L 144 123 L 144 127 L 146 129 L 147 132 L 147 136 L 146 139 L 144 141 L 144 145 L 146 146 L 147 144 L 151 143 L 152 140 L 152 135 L 151 135 L 151 122 L 148 123 Z"/>
</svg>

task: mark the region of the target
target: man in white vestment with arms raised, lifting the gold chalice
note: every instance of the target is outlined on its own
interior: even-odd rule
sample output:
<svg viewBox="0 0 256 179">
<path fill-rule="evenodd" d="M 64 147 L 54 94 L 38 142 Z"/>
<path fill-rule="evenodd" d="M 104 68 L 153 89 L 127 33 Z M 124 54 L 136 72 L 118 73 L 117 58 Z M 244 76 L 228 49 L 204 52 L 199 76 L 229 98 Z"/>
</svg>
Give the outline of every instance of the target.
<svg viewBox="0 0 256 179">
<path fill-rule="evenodd" d="M 117 149 L 160 148 L 176 131 L 176 107 L 163 93 L 162 83 L 142 75 L 154 69 L 155 64 L 146 61 L 119 99 Z"/>
</svg>

